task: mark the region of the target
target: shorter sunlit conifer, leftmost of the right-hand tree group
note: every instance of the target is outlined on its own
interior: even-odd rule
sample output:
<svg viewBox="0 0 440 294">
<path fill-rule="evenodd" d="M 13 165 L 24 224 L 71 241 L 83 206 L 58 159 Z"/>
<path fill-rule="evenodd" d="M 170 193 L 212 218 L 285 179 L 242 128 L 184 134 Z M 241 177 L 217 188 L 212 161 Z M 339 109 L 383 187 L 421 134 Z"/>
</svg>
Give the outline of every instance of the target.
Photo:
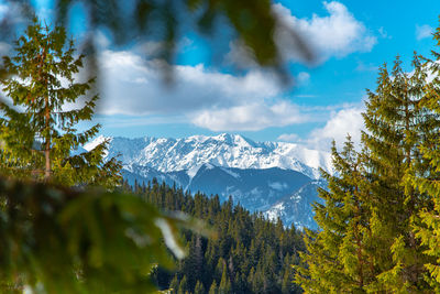
<svg viewBox="0 0 440 294">
<path fill-rule="evenodd" d="M 367 211 L 361 156 L 350 137 L 339 153 L 334 142 L 332 160 L 336 175 L 321 171 L 328 190 L 319 189 L 324 204 L 316 203 L 315 219 L 320 231 L 306 230 L 307 251 L 296 265 L 295 282 L 306 293 L 363 293 L 373 279 L 366 257 Z"/>
</svg>

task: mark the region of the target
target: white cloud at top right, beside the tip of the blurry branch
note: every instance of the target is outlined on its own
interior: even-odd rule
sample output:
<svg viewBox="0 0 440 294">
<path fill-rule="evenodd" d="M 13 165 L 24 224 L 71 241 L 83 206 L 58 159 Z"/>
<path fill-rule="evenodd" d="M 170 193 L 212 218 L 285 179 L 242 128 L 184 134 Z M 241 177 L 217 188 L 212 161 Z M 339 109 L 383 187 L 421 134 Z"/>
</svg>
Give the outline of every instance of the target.
<svg viewBox="0 0 440 294">
<path fill-rule="evenodd" d="M 312 14 L 311 19 L 299 19 L 280 3 L 273 4 L 273 10 L 282 23 L 280 28 L 293 29 L 311 45 L 318 56 L 318 63 L 330 57 L 344 57 L 354 52 L 370 52 L 377 43 L 365 25 L 356 20 L 348 8 L 337 1 L 323 2 L 328 15 Z M 276 42 L 285 58 L 304 62 L 298 44 L 292 37 L 290 30 L 275 32 Z M 230 44 L 231 52 L 227 59 L 239 66 L 252 66 L 251 55 L 239 42 Z"/>
</svg>

